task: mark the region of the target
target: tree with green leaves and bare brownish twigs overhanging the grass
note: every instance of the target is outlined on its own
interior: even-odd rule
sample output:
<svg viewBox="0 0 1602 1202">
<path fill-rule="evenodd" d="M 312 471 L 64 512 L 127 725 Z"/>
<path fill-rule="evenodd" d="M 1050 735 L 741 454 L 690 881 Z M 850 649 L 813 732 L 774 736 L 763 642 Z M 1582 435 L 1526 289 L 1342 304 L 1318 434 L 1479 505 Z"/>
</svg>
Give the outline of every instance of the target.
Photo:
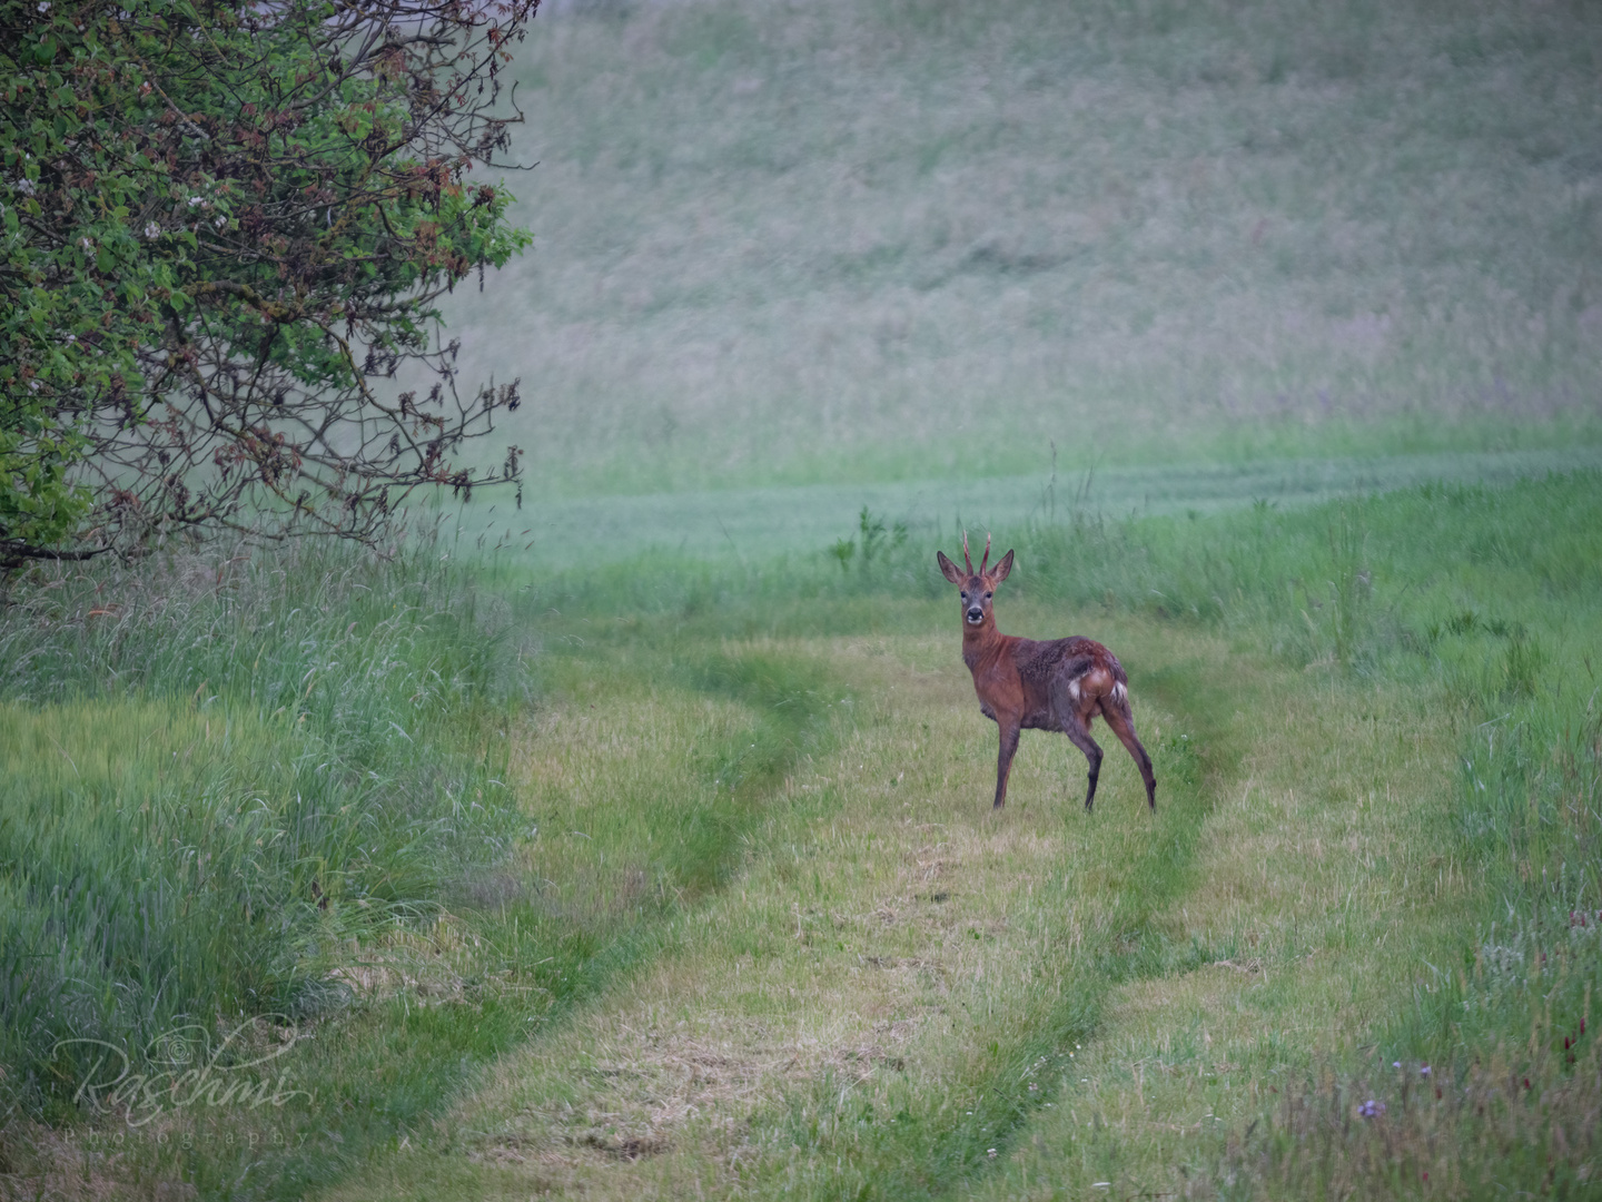
<svg viewBox="0 0 1602 1202">
<path fill-rule="evenodd" d="M 0 0 L 0 569 L 521 479 L 436 305 L 530 240 L 466 176 L 537 3 Z"/>
</svg>

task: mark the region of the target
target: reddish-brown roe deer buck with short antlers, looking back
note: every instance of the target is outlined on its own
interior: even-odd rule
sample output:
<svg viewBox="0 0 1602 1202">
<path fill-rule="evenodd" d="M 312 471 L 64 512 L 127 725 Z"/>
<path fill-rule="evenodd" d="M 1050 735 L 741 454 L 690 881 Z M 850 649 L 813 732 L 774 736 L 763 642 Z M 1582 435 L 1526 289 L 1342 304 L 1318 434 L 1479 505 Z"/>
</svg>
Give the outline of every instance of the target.
<svg viewBox="0 0 1602 1202">
<path fill-rule="evenodd" d="M 1000 809 L 1006 803 L 1006 777 L 1012 771 L 1019 731 L 1030 729 L 1062 731 L 1085 752 L 1091 766 L 1089 789 L 1085 793 L 1085 808 L 1089 809 L 1096 801 L 1096 777 L 1101 774 L 1102 750 L 1091 739 L 1091 720 L 1099 713 L 1134 756 L 1145 782 L 1145 801 L 1155 813 L 1157 777 L 1152 774 L 1152 756 L 1134 734 L 1129 678 L 1118 657 L 1088 638 L 1036 643 L 996 630 L 990 599 L 996 585 L 1012 571 L 1012 551 L 987 571 L 988 537 L 977 572 L 968 553 L 966 530 L 963 532 L 966 572 L 947 559 L 945 551 L 936 551 L 936 559 L 940 561 L 945 579 L 963 591 L 963 664 L 974 673 L 979 712 L 1001 728 L 995 808 Z"/>
</svg>

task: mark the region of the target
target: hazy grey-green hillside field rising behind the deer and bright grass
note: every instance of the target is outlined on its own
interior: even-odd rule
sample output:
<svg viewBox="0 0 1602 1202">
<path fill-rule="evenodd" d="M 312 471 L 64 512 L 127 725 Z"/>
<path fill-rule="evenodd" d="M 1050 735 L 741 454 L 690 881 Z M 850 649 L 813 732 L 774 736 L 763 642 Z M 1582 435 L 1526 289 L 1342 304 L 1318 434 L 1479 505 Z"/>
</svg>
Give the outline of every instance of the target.
<svg viewBox="0 0 1602 1202">
<path fill-rule="evenodd" d="M 1602 438 L 1586 5 L 594 0 L 517 75 L 449 317 L 535 513 Z"/>
</svg>

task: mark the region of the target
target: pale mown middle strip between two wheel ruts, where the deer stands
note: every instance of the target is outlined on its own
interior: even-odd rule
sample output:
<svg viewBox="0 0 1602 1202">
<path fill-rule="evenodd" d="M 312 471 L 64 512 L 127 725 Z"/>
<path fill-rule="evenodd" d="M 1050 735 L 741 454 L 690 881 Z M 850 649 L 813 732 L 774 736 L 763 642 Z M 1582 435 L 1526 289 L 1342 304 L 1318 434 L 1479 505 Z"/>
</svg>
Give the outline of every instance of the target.
<svg viewBox="0 0 1602 1202">
<path fill-rule="evenodd" d="M 1187 712 L 1218 659 L 1190 644 L 1193 670 L 1137 676 L 1168 728 L 1142 728 L 1166 782 L 1155 824 L 1125 808 L 1128 764 L 1104 771 L 1086 817 L 1083 761 L 1059 787 L 1043 769 L 1072 748 L 1049 740 L 1020 753 L 1000 824 L 976 808 L 993 734 L 948 639 L 793 647 L 860 705 L 767 808 L 737 889 L 681 912 L 670 954 L 506 1058 L 452 1115 L 453 1139 L 340 1197 L 934 1197 L 979 1181 L 1096 1032 L 1110 978 L 1182 955 L 1153 915 L 1230 764 L 1211 728 L 1165 712 Z M 937 670 L 908 678 L 926 655 Z M 1045 986 L 1003 982 L 1014 965 Z"/>
</svg>

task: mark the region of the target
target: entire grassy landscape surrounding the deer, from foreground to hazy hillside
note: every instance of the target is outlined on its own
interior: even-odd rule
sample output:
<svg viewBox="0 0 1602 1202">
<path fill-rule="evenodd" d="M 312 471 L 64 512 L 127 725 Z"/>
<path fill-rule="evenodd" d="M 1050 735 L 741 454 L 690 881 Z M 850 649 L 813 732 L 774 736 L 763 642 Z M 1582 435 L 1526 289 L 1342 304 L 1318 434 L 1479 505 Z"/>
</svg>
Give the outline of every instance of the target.
<svg viewBox="0 0 1602 1202">
<path fill-rule="evenodd" d="M 1596 1196 L 1591 6 L 514 69 L 521 508 L 8 585 L 0 1197 Z M 990 811 L 963 529 L 1155 816 L 1105 728 Z"/>
</svg>

